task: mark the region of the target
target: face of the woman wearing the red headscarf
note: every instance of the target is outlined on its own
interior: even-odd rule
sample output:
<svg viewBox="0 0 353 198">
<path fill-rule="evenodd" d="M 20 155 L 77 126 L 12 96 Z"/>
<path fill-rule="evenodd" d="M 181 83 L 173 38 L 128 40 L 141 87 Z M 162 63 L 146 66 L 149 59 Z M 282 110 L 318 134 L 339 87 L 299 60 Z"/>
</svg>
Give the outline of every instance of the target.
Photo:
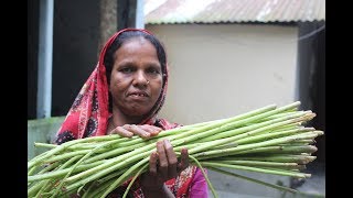
<svg viewBox="0 0 353 198">
<path fill-rule="evenodd" d="M 109 85 L 113 109 L 130 117 L 148 113 L 163 82 L 154 46 L 143 37 L 132 37 L 115 52 L 114 59 Z"/>
</svg>

